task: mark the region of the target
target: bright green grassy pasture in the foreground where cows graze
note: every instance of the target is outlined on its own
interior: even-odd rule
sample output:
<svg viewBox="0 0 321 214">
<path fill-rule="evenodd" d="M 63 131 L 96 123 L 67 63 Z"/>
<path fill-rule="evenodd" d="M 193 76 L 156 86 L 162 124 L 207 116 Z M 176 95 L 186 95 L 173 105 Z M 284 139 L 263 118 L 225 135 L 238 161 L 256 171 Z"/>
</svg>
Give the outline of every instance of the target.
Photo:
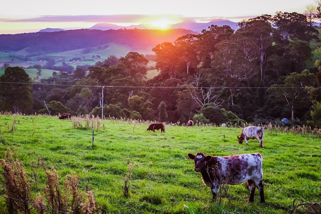
<svg viewBox="0 0 321 214">
<path fill-rule="evenodd" d="M 195 213 L 289 213 L 294 198 L 321 199 L 321 141 L 316 136 L 265 130 L 260 148 L 256 140 L 240 145 L 239 128 L 166 126 L 166 133 L 153 133 L 146 131 L 147 125 L 136 124 L 133 133 L 132 123 L 104 120 L 95 130 L 95 146 L 91 147 L 92 131 L 73 129 L 71 120 L 17 116 L 17 129 L 9 133 L 12 120 L 13 116 L 0 115 L 0 129 L 4 127 L 0 158 L 7 148 L 15 150 L 28 172 L 33 196 L 45 186 L 43 171 L 38 171 L 38 186 L 30 172 L 31 162 L 41 156 L 47 166 L 57 169 L 61 184 L 71 170 L 79 174 L 80 188 L 95 193 L 102 213 L 188 213 L 184 204 L 191 203 Z M 230 201 L 224 198 L 221 205 L 213 203 L 210 188 L 187 157 L 187 153 L 200 151 L 217 156 L 261 153 L 266 202 L 259 203 L 256 190 L 254 202 L 248 203 L 249 191 L 240 184 L 230 186 Z M 122 189 L 127 161 L 135 164 L 128 199 Z M 2 210 L 2 176 L 0 181 Z"/>
</svg>

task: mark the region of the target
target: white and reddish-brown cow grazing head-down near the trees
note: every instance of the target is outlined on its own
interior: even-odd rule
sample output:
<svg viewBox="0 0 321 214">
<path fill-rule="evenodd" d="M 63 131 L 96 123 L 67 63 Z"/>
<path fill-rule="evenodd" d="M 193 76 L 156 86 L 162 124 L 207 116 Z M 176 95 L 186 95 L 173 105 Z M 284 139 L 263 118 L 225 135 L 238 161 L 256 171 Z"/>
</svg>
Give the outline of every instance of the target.
<svg viewBox="0 0 321 214">
<path fill-rule="evenodd" d="M 245 140 L 246 145 L 248 144 L 248 139 L 257 139 L 260 142 L 260 147 L 263 146 L 264 129 L 257 126 L 248 126 L 242 130 L 241 136 L 238 136 L 239 143 L 242 144 Z"/>
</svg>

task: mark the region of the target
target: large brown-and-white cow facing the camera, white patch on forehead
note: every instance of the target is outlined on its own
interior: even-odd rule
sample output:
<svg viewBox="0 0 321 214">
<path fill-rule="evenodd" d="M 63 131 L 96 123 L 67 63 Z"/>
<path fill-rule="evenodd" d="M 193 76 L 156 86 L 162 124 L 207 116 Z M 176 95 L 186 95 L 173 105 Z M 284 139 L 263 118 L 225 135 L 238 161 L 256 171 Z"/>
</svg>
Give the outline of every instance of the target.
<svg viewBox="0 0 321 214">
<path fill-rule="evenodd" d="M 202 174 L 203 183 L 211 187 L 213 201 L 220 184 L 237 185 L 247 181 L 250 188 L 250 199 L 254 200 L 257 187 L 261 203 L 265 202 L 262 183 L 262 156 L 259 153 L 232 156 L 210 156 L 203 153 L 188 154 L 195 161 L 195 171 Z"/>
</svg>

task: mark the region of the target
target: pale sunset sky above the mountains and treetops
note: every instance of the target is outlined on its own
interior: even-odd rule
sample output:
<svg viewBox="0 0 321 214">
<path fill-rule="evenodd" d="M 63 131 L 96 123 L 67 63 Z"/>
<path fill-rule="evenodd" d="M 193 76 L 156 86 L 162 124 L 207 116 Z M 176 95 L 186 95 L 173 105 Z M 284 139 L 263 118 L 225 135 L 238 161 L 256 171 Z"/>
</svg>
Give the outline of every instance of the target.
<svg viewBox="0 0 321 214">
<path fill-rule="evenodd" d="M 277 11 L 302 13 L 314 0 L 15 0 L 2 1 L 0 34 L 37 32 L 45 28 L 80 29 L 96 23 L 121 26 L 147 23 L 166 27 L 183 21 L 239 22 Z"/>
</svg>

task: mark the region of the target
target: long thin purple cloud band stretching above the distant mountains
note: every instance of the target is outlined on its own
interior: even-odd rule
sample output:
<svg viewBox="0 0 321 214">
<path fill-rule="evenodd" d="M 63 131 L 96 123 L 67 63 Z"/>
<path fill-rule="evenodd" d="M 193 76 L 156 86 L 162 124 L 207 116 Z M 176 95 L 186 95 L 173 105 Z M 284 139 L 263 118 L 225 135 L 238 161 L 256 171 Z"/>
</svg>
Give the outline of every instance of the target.
<svg viewBox="0 0 321 214">
<path fill-rule="evenodd" d="M 182 15 L 139 15 L 139 14 L 117 14 L 117 15 L 45 15 L 33 18 L 12 19 L 0 18 L 0 22 L 103 22 L 103 23 L 144 23 L 158 18 L 170 18 L 178 22 L 184 21 L 211 21 L 213 19 L 248 19 L 256 16 L 238 17 L 185 17 Z"/>
</svg>

